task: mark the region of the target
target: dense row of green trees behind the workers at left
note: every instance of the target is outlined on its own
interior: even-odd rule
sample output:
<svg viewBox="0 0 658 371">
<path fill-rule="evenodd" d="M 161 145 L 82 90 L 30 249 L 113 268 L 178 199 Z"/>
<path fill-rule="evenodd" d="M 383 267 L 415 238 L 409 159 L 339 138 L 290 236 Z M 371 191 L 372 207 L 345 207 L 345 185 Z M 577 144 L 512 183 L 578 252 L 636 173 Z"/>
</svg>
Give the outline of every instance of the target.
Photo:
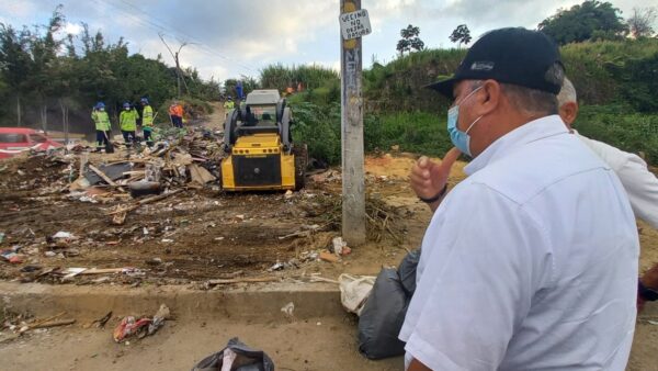
<svg viewBox="0 0 658 371">
<path fill-rule="evenodd" d="M 123 40 L 109 43 L 87 25 L 79 37 L 60 36 L 64 24 L 61 7 L 47 25 L 16 30 L 0 23 L 0 100 L 7 102 L 0 105 L 0 126 L 39 122 L 44 130 L 59 128 L 63 115 L 71 112 L 77 119 L 71 122 L 88 124 L 73 130 L 84 132 L 92 127 L 95 102 L 103 101 L 115 117 L 123 102 L 141 97 L 160 108 L 159 120 L 167 120 L 163 110 L 177 93 L 175 68 L 160 57 L 131 55 Z M 183 101 L 219 97 L 218 82 L 203 81 L 194 69 L 183 75 L 189 88 Z"/>
</svg>

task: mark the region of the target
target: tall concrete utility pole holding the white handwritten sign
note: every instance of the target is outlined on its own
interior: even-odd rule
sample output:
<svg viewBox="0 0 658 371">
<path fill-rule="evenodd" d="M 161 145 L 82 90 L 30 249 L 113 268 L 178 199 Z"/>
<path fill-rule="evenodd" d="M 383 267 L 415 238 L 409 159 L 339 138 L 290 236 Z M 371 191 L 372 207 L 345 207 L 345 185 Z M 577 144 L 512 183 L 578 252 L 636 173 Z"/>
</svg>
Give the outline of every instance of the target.
<svg viewBox="0 0 658 371">
<path fill-rule="evenodd" d="M 361 10 L 361 0 L 340 0 L 340 14 Z M 363 94 L 361 38 L 340 38 L 342 236 L 351 246 L 365 243 L 365 179 L 363 171 Z"/>
</svg>

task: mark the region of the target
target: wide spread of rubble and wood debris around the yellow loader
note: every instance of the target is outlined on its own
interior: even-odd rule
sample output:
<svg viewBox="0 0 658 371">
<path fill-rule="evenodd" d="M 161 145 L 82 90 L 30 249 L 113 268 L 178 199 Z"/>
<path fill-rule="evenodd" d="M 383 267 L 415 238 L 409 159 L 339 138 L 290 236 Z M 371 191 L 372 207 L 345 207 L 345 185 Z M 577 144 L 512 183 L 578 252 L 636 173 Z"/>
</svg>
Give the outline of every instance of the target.
<svg viewBox="0 0 658 371">
<path fill-rule="evenodd" d="M 311 171 L 285 194 L 222 192 L 219 140 L 198 128 L 152 148 L 77 145 L 1 162 L 0 279 L 215 288 L 349 263 L 352 246 L 334 239 L 340 171 Z M 372 240 L 405 238 L 404 207 L 376 193 L 395 181 L 366 176 Z"/>
</svg>

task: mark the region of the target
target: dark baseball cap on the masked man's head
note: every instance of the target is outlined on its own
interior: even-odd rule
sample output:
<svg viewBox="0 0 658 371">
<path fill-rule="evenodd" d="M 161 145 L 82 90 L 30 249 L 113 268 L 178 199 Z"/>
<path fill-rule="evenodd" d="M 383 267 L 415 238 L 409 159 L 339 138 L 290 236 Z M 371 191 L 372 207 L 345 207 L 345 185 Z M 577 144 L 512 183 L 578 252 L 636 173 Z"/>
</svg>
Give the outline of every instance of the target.
<svg viewBox="0 0 658 371">
<path fill-rule="evenodd" d="M 455 83 L 487 79 L 557 94 L 564 79 L 559 49 L 538 31 L 494 30 L 473 44 L 452 78 L 427 88 L 452 99 Z"/>
</svg>

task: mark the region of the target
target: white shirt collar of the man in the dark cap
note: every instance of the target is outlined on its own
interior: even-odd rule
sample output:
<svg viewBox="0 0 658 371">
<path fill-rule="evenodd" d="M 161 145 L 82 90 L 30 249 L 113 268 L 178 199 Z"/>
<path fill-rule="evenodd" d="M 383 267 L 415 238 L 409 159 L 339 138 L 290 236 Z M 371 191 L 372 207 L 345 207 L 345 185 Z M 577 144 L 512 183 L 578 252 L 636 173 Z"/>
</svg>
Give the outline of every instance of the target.
<svg viewBox="0 0 658 371">
<path fill-rule="evenodd" d="M 554 114 L 531 121 L 517 127 L 508 134 L 491 143 L 479 156 L 468 164 L 464 171 L 467 176 L 481 170 L 487 165 L 504 157 L 512 149 L 531 142 L 543 139 L 558 134 L 568 134 L 569 131 L 561 119 Z"/>
</svg>

